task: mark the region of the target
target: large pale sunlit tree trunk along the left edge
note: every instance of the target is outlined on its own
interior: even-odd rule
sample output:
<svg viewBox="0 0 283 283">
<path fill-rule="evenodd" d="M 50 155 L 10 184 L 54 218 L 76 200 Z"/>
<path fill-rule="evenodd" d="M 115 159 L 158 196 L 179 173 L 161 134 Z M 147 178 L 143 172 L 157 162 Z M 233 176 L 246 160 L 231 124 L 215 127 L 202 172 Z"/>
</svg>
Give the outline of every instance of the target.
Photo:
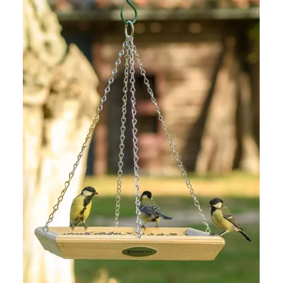
<svg viewBox="0 0 283 283">
<path fill-rule="evenodd" d="M 33 233 L 57 203 L 99 103 L 91 65 L 60 32 L 46 0 L 23 0 L 23 283 L 74 283 L 73 261 L 45 251 Z M 52 226 L 69 226 L 87 150 Z"/>
</svg>

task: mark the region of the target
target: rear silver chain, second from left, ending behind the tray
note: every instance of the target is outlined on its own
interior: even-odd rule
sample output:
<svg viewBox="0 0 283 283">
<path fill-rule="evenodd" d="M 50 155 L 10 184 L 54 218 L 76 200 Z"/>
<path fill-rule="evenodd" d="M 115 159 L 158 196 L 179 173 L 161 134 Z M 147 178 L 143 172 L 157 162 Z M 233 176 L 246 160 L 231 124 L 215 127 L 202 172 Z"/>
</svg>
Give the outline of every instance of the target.
<svg viewBox="0 0 283 283">
<path fill-rule="evenodd" d="M 122 127 L 121 127 L 121 136 L 120 136 L 120 153 L 119 153 L 119 170 L 118 170 L 118 180 L 117 180 L 117 197 L 116 197 L 116 211 L 115 211 L 115 227 L 119 225 L 119 215 L 120 215 L 120 201 L 121 201 L 121 191 L 122 191 L 122 175 L 123 175 L 123 158 L 124 158 L 124 149 L 125 149 L 125 131 L 126 131 L 126 114 L 127 114 L 127 101 L 128 101 L 128 82 L 129 82 L 129 46 L 126 46 L 127 54 L 125 56 L 125 78 L 124 83 L 125 86 L 123 88 L 124 96 L 123 96 L 123 108 L 122 108 Z"/>
</svg>

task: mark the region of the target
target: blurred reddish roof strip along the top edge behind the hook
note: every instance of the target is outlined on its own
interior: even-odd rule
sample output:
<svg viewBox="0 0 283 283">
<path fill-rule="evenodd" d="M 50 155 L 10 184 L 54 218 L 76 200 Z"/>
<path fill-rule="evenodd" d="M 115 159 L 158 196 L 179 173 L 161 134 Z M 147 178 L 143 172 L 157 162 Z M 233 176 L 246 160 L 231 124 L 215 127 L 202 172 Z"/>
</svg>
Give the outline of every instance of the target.
<svg viewBox="0 0 283 283">
<path fill-rule="evenodd" d="M 125 15 L 127 12 L 132 12 L 126 0 L 48 0 L 48 2 L 59 17 L 64 18 L 67 15 L 70 19 L 71 17 L 85 19 L 95 14 L 98 19 L 107 19 L 108 15 L 109 19 L 118 20 L 123 4 L 125 4 Z M 140 20 L 153 18 L 153 15 L 157 15 L 158 19 L 158 14 L 164 14 L 164 12 L 166 14 L 166 11 L 168 14 L 168 10 L 173 12 L 173 14 L 170 12 L 171 16 L 177 13 L 177 19 L 182 12 L 184 16 L 188 14 L 189 18 L 190 14 L 193 17 L 208 14 L 212 18 L 223 18 L 226 14 L 226 18 L 229 18 L 229 14 L 235 14 L 235 18 L 242 17 L 240 15 L 246 15 L 247 18 L 259 18 L 260 12 L 260 0 L 132 0 L 132 3 L 139 9 Z M 152 10 L 155 11 L 152 13 Z M 212 15 L 212 11 L 216 14 Z M 164 18 L 159 19 L 165 19 L 165 15 Z"/>
</svg>

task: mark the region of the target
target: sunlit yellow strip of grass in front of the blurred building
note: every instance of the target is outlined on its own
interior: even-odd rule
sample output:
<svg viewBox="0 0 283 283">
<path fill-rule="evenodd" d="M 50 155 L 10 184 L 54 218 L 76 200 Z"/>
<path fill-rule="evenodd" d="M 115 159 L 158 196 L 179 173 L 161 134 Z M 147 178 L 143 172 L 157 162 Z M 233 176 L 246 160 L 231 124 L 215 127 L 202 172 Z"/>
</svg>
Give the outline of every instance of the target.
<svg viewBox="0 0 283 283">
<path fill-rule="evenodd" d="M 230 196 L 259 197 L 260 177 L 254 177 L 240 172 L 225 176 L 197 177 L 188 174 L 198 196 Z M 141 191 L 150 190 L 156 195 L 188 196 L 189 189 L 183 177 L 145 177 L 141 176 Z M 85 186 L 93 186 L 101 196 L 113 196 L 117 189 L 117 176 L 86 177 Z M 135 184 L 133 176 L 122 177 L 122 194 L 134 196 Z"/>
</svg>

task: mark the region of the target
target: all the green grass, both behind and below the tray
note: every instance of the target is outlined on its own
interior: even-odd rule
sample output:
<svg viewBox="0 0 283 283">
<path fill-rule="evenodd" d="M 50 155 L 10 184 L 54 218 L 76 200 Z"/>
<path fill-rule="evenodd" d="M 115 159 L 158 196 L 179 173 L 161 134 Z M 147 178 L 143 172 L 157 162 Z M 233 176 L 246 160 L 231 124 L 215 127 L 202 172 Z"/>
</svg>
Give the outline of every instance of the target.
<svg viewBox="0 0 283 283">
<path fill-rule="evenodd" d="M 156 197 L 162 210 L 172 211 L 194 208 L 192 199 Z M 208 198 L 201 198 L 204 211 Z M 226 198 L 232 212 L 260 212 L 259 199 Z M 121 202 L 121 217 L 135 216 L 135 199 L 124 197 Z M 114 217 L 115 197 L 95 201 L 92 215 Z M 197 213 L 197 211 L 196 211 Z M 94 216 L 94 214 L 96 216 Z M 91 223 L 88 223 L 91 225 Z M 173 225 L 172 225 L 173 226 Z M 204 229 L 203 225 L 193 227 Z M 253 239 L 247 242 L 240 234 L 225 235 L 226 246 L 213 262 L 137 262 L 137 261 L 75 261 L 77 283 L 92 283 L 99 270 L 106 269 L 120 283 L 259 283 L 260 282 L 260 224 L 245 226 Z M 218 229 L 212 226 L 212 231 Z"/>
</svg>

